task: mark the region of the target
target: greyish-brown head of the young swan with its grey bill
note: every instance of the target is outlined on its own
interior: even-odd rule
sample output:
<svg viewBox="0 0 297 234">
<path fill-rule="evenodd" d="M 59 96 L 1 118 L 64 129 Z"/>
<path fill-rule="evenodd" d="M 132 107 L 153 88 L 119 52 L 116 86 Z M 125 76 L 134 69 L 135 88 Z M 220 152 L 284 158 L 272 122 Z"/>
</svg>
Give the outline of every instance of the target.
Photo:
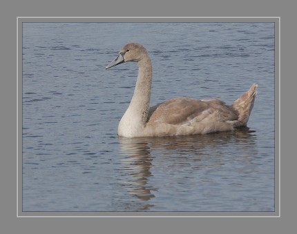
<svg viewBox="0 0 297 234">
<path fill-rule="evenodd" d="M 126 61 L 140 61 L 142 57 L 147 56 L 146 49 L 138 43 L 128 43 L 119 52 L 115 60 L 111 61 L 105 68 L 111 68 Z"/>
</svg>

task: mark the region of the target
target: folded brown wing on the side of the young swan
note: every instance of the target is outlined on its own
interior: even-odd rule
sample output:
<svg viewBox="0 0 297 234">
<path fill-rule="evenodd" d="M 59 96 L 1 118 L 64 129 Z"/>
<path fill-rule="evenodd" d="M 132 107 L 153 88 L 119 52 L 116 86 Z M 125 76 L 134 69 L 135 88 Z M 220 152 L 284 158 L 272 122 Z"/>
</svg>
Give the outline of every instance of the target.
<svg viewBox="0 0 297 234">
<path fill-rule="evenodd" d="M 226 106 L 223 101 L 213 99 L 200 101 L 195 99 L 177 98 L 157 104 L 148 112 L 148 123 L 155 121 L 173 125 L 184 125 L 210 116 L 214 111 L 219 114 L 217 121 L 232 121 L 238 118 L 233 108 Z"/>
</svg>

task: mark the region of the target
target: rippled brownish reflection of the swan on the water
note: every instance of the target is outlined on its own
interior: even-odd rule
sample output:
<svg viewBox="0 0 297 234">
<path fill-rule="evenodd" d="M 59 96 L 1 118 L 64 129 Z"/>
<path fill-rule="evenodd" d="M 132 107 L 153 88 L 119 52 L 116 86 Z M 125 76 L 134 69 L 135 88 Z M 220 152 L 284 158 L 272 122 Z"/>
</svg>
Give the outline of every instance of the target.
<svg viewBox="0 0 297 234">
<path fill-rule="evenodd" d="M 151 168 L 153 161 L 163 157 L 159 162 L 185 166 L 185 162 L 199 162 L 211 160 L 214 150 L 233 143 L 240 147 L 241 155 L 252 155 L 249 148 L 254 144 L 254 132 L 249 128 L 239 128 L 233 132 L 212 133 L 208 135 L 191 135 L 177 137 L 119 137 L 119 143 L 123 155 L 122 167 L 124 173 L 130 175 L 131 180 L 124 182 L 129 193 L 135 195 L 141 201 L 148 201 L 155 197 L 153 191 L 158 188 L 150 184 L 149 177 L 153 176 Z M 222 156 L 223 157 L 223 156 Z M 211 162 L 213 163 L 213 162 Z M 219 162 L 217 162 L 219 163 Z M 168 166 L 168 165 L 164 165 Z M 188 170 L 191 168 L 187 168 Z M 197 170 L 199 168 L 195 168 Z M 149 202 L 148 202 L 149 203 Z M 151 201 L 151 203 L 153 203 Z M 149 209 L 152 204 L 147 204 L 143 210 Z"/>
</svg>

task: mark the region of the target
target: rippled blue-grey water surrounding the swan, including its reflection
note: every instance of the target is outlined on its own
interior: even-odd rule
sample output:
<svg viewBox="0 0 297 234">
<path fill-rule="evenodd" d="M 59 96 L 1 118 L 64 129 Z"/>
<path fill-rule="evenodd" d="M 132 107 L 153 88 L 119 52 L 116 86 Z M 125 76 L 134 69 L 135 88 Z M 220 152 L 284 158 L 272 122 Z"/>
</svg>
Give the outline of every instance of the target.
<svg viewBox="0 0 297 234">
<path fill-rule="evenodd" d="M 153 61 L 151 106 L 227 104 L 257 83 L 248 127 L 122 139 L 137 65 L 105 70 L 124 44 Z M 274 23 L 23 23 L 23 211 L 274 211 Z"/>
</svg>

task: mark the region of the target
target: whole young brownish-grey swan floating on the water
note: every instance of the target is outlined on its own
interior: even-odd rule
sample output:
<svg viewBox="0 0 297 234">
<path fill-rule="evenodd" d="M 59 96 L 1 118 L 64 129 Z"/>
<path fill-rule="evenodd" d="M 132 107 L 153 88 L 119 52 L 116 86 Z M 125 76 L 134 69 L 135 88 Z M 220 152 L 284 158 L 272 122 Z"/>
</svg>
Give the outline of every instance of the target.
<svg viewBox="0 0 297 234">
<path fill-rule="evenodd" d="M 230 106 L 218 99 L 200 101 L 178 97 L 149 108 L 152 65 L 148 52 L 138 43 L 128 43 L 106 69 L 126 61 L 136 61 L 139 69 L 131 103 L 119 121 L 119 136 L 193 135 L 247 125 L 256 98 L 257 84 L 253 84 Z"/>
</svg>

